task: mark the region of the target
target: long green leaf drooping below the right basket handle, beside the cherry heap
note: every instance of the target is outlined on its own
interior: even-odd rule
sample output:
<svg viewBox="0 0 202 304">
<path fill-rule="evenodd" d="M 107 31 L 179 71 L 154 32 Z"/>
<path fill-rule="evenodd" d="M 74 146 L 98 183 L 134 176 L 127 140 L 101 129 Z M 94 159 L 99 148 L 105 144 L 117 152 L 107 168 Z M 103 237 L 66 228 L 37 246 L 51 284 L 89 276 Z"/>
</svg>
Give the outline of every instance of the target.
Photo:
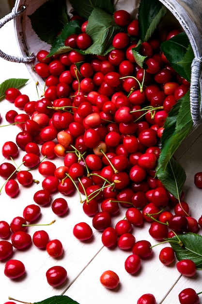
<svg viewBox="0 0 202 304">
<path fill-rule="evenodd" d="M 180 146 L 181 142 L 192 130 L 193 121 L 190 114 L 189 91 L 169 112 L 161 137 L 161 153 L 158 159 L 156 174 L 166 169 L 169 160 Z"/>
</svg>

